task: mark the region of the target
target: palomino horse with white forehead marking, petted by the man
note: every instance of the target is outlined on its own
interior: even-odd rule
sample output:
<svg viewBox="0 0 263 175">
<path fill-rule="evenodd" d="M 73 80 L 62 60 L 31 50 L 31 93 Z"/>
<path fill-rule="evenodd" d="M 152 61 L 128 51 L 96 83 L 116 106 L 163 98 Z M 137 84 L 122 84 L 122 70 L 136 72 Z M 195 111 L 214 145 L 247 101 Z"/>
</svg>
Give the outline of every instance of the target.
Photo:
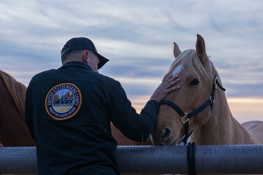
<svg viewBox="0 0 263 175">
<path fill-rule="evenodd" d="M 160 103 L 151 133 L 154 145 L 176 145 L 190 133 L 190 141 L 196 145 L 263 144 L 263 121 L 239 124 L 232 116 L 221 90 L 224 90 L 221 80 L 206 55 L 205 42 L 200 35 L 197 35 L 196 50 L 181 52 L 174 43 L 174 56 L 176 59 L 164 78 L 178 74 L 180 89 L 170 92 Z M 216 85 L 220 88 L 215 88 Z M 184 124 L 189 124 L 187 134 Z"/>
</svg>

